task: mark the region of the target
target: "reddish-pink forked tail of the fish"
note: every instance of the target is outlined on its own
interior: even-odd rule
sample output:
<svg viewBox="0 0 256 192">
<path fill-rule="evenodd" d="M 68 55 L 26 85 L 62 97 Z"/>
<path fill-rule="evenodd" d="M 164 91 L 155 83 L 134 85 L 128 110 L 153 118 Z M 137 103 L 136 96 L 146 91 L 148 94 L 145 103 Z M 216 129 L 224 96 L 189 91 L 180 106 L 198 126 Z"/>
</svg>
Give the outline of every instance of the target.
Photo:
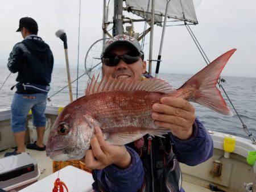
<svg viewBox="0 0 256 192">
<path fill-rule="evenodd" d="M 185 82 L 177 91 L 184 93 L 184 90 L 189 88 L 193 90 L 193 94 L 188 98 L 188 101 L 199 103 L 221 114 L 232 116 L 233 113 L 226 105 L 216 84 L 226 62 L 228 62 L 229 58 L 236 50 L 237 49 L 231 49 L 212 61 L 204 69 L 200 70 L 200 72 L 196 73 L 195 76 Z"/>
</svg>

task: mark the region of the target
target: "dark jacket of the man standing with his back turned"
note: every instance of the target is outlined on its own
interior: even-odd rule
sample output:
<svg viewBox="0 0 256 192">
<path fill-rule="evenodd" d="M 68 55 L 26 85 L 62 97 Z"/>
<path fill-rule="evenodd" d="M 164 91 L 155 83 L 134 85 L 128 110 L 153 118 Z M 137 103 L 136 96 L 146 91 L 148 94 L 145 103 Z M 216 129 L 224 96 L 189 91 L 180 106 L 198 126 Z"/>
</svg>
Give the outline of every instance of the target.
<svg viewBox="0 0 256 192">
<path fill-rule="evenodd" d="M 7 67 L 10 72 L 18 72 L 16 93 L 40 93 L 24 90 L 22 84 L 30 83 L 49 86 L 53 69 L 53 55 L 49 45 L 41 37 L 27 36 L 22 42 L 14 45 Z"/>
</svg>

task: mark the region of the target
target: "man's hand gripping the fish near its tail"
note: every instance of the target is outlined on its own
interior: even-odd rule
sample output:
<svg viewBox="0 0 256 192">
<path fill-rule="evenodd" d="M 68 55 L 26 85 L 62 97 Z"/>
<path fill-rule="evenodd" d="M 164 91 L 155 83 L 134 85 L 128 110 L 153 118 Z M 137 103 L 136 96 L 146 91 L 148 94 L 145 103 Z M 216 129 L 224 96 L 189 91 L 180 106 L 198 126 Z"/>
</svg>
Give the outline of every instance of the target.
<svg viewBox="0 0 256 192">
<path fill-rule="evenodd" d="M 169 128 L 181 140 L 191 137 L 196 116 L 195 108 L 188 101 L 163 97 L 152 108 L 152 118 L 157 126 Z"/>
</svg>

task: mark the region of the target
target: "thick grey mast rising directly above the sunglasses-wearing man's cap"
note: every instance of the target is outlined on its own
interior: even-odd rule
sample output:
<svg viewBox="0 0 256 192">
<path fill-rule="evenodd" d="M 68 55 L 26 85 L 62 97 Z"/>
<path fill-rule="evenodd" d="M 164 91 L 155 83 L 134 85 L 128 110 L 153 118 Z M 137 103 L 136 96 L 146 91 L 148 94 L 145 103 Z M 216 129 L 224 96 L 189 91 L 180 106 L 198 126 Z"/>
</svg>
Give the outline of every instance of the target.
<svg viewBox="0 0 256 192">
<path fill-rule="evenodd" d="M 114 1 L 114 28 L 113 36 L 123 34 L 123 0 Z"/>
</svg>

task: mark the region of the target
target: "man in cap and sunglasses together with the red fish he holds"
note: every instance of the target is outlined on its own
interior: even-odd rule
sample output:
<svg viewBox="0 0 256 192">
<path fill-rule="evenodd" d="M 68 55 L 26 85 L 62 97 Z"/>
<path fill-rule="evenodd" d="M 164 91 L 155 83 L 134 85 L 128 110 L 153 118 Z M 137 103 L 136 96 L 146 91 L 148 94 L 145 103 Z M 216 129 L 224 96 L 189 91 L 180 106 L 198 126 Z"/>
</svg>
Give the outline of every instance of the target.
<svg viewBox="0 0 256 192">
<path fill-rule="evenodd" d="M 47 155 L 80 159 L 84 150 L 95 191 L 184 191 L 179 162 L 194 166 L 213 155 L 212 138 L 188 101 L 232 114 L 215 85 L 234 51 L 176 90 L 159 79 L 144 80 L 141 45 L 115 36 L 102 52 L 102 81 L 93 78 L 86 95 L 63 109 Z"/>
</svg>

